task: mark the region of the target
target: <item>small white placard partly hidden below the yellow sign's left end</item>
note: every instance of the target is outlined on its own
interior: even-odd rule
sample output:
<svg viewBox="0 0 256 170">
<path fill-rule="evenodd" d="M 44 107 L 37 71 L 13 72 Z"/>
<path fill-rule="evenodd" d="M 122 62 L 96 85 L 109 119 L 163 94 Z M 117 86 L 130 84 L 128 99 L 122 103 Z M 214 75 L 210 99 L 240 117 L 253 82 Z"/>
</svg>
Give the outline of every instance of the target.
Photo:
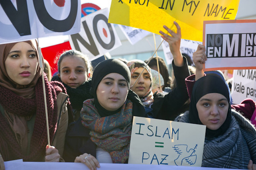
<svg viewBox="0 0 256 170">
<path fill-rule="evenodd" d="M 143 29 L 128 27 L 126 25 L 119 25 L 119 27 L 132 45 L 151 33 Z"/>
</svg>

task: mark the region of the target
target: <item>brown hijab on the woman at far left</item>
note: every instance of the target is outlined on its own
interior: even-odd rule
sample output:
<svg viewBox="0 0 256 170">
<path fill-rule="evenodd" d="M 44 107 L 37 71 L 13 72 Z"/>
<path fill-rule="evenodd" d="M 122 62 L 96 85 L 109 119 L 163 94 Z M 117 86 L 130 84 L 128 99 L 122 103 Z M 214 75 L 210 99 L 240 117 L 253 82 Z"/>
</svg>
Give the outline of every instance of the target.
<svg viewBox="0 0 256 170">
<path fill-rule="evenodd" d="M 31 45 L 31 47 L 35 50 L 37 59 L 39 62 L 39 55 L 37 51 L 37 41 L 36 40 L 28 40 L 23 41 L 25 43 L 28 43 Z M 16 42 L 18 43 L 18 42 Z M 5 60 L 7 59 L 7 56 L 9 52 L 11 51 L 12 47 L 15 46 L 16 43 L 9 43 L 9 44 L 0 44 L 0 86 L 3 86 L 5 88 L 10 89 L 15 94 L 25 97 L 25 98 L 32 98 L 35 95 L 35 84 L 37 83 L 37 80 L 42 75 L 41 68 L 39 67 L 39 64 L 37 66 L 37 71 L 35 74 L 34 79 L 31 81 L 31 83 L 23 86 L 20 84 L 15 83 L 7 74 L 6 67 L 5 67 Z"/>
</svg>

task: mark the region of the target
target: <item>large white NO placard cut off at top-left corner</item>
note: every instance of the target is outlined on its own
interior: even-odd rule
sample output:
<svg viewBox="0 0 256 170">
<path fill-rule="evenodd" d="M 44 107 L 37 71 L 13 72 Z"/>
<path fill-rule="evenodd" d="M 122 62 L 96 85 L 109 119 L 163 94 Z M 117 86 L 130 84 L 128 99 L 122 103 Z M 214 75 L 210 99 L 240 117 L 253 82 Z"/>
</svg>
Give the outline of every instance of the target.
<svg viewBox="0 0 256 170">
<path fill-rule="evenodd" d="M 81 2 L 5 0 L 0 3 L 0 44 L 80 31 Z"/>
</svg>

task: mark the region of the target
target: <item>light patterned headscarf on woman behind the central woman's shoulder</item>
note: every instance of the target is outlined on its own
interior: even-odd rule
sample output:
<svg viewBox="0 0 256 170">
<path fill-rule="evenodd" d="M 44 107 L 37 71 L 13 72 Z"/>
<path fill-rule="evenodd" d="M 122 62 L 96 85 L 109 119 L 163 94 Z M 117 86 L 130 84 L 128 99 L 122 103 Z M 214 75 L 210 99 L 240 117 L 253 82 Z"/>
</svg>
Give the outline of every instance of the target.
<svg viewBox="0 0 256 170">
<path fill-rule="evenodd" d="M 153 78 L 152 78 L 152 74 L 151 74 L 149 66 L 147 66 L 147 64 L 145 62 L 143 62 L 142 60 L 131 60 L 130 62 L 127 63 L 127 66 L 129 67 L 129 69 L 131 71 L 131 75 L 136 70 L 138 70 L 138 68 L 140 68 L 140 67 L 145 68 L 145 70 L 150 75 L 150 86 L 149 86 L 146 94 L 144 96 L 142 96 L 142 98 L 140 98 L 143 105 L 146 107 L 149 107 L 154 102 L 154 97 L 153 97 L 153 92 L 152 92 Z"/>
</svg>

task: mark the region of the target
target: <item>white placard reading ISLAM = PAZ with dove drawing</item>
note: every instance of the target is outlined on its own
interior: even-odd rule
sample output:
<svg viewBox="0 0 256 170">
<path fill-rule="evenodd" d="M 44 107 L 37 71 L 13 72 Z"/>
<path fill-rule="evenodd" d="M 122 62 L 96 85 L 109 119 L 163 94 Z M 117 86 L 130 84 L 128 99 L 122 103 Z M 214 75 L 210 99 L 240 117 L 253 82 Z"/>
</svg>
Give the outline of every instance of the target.
<svg viewBox="0 0 256 170">
<path fill-rule="evenodd" d="M 206 126 L 133 116 L 128 163 L 201 166 Z"/>
</svg>

